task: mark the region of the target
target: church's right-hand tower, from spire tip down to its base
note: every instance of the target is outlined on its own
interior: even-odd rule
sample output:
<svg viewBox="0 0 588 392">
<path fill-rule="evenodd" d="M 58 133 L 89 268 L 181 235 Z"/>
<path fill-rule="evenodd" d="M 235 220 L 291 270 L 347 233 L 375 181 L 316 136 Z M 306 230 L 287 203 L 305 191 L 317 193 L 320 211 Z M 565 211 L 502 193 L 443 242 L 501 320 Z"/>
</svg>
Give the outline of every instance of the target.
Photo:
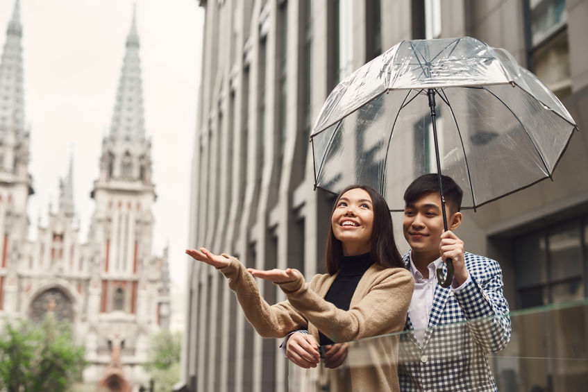
<svg viewBox="0 0 588 392">
<path fill-rule="evenodd" d="M 116 337 L 122 342 L 123 375 L 134 386 L 147 380 L 141 365 L 147 359 L 149 336 L 160 330 L 162 278 L 161 260 L 151 253 L 156 194 L 151 141 L 145 135 L 139 49 L 133 10 L 110 132 L 102 142 L 99 178 L 91 193 L 96 210 L 88 246 L 99 271 L 90 281 L 86 349 L 92 364 L 85 370 L 86 380 L 108 380 L 103 353 L 109 352 L 108 341 Z"/>
</svg>

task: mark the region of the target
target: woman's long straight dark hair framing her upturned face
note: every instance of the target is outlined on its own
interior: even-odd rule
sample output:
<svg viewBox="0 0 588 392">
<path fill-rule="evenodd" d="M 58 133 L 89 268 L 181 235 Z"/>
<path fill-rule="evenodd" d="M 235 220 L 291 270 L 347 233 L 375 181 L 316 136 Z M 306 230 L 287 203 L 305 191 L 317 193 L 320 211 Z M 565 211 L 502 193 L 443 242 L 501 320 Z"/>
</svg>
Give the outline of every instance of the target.
<svg viewBox="0 0 588 392">
<path fill-rule="evenodd" d="M 373 228 L 371 230 L 371 257 L 374 264 L 378 264 L 384 268 L 404 268 L 402 257 L 396 248 L 396 241 L 394 241 L 394 228 L 392 226 L 392 216 L 388 204 L 384 198 L 373 188 L 367 185 L 351 185 L 341 191 L 330 216 L 333 216 L 335 208 L 339 203 L 339 199 L 346 191 L 351 189 L 363 189 L 367 191 L 371 198 L 373 205 Z M 327 245 L 325 252 L 325 265 L 329 275 L 333 275 L 339 271 L 339 257 L 343 255 L 343 246 L 341 241 L 335 238 L 333 233 L 333 225 L 329 220 L 329 230 L 327 237 Z"/>
</svg>

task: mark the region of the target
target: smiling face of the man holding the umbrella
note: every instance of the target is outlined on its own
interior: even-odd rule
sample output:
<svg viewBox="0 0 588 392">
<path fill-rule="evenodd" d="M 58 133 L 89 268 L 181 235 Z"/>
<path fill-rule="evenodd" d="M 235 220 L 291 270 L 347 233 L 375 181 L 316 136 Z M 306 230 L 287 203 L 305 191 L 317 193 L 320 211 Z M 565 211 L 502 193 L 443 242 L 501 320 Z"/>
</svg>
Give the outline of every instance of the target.
<svg viewBox="0 0 588 392">
<path fill-rule="evenodd" d="M 451 221 L 448 205 L 445 205 L 447 221 Z M 439 242 L 444 232 L 441 196 L 425 194 L 410 205 L 405 205 L 403 232 L 412 252 L 426 257 L 429 262 L 439 257 Z"/>
</svg>

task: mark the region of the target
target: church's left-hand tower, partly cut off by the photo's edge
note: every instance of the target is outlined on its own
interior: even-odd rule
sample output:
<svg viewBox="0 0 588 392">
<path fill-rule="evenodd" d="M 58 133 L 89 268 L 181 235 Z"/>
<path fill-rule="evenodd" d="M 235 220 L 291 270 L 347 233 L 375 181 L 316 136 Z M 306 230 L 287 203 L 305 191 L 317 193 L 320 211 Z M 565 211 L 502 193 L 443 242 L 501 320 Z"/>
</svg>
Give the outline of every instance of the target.
<svg viewBox="0 0 588 392">
<path fill-rule="evenodd" d="M 33 194 L 24 126 L 20 4 L 15 1 L 0 60 L 0 312 L 15 312 L 17 261 L 28 234 L 26 206 Z"/>
</svg>

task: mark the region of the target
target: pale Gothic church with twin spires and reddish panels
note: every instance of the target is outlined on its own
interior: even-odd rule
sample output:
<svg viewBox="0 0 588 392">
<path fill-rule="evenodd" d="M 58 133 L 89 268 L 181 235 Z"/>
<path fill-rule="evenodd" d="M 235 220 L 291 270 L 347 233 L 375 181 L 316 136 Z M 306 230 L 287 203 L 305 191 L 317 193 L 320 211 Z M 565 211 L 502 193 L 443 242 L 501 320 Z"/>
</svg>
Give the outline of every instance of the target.
<svg viewBox="0 0 588 392">
<path fill-rule="evenodd" d="M 86 242 L 78 238 L 72 161 L 48 223 L 37 223 L 37 238 L 28 238 L 33 179 L 30 130 L 24 126 L 22 31 L 17 0 L 0 62 L 0 324 L 15 318 L 38 322 L 54 312 L 71 323 L 85 347 L 88 389 L 136 392 L 149 384 L 143 365 L 150 336 L 169 325 L 170 287 L 167 251 L 162 257 L 151 251 L 156 194 L 135 16 L 110 132 L 96 146 L 102 154 Z"/>
</svg>

